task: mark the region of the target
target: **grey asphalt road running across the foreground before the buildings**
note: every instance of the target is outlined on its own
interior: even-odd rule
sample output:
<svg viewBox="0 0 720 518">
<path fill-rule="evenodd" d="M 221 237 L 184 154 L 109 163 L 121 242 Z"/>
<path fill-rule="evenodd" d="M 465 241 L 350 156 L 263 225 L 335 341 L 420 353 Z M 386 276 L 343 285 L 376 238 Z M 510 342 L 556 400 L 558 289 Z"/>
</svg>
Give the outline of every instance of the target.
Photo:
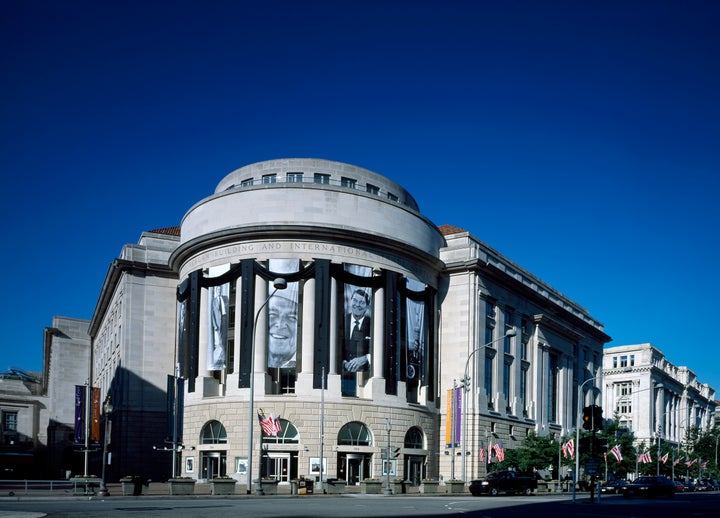
<svg viewBox="0 0 720 518">
<path fill-rule="evenodd" d="M 139 497 L 2 497 L 0 517 L 40 518 L 397 518 L 464 515 L 477 518 L 715 518 L 720 493 L 689 493 L 674 499 L 625 500 L 605 496 L 590 504 L 584 496 L 573 504 L 564 495 L 473 497 L 465 495 L 342 496 L 139 496 Z"/>
</svg>

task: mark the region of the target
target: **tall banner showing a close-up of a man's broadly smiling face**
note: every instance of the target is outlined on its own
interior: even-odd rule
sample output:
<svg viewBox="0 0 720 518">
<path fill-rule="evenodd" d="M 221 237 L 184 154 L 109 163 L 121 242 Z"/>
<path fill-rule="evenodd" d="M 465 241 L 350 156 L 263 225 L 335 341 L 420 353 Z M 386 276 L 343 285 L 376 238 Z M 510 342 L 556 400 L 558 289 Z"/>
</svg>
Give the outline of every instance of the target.
<svg viewBox="0 0 720 518">
<path fill-rule="evenodd" d="M 299 259 L 271 259 L 270 271 L 276 274 L 296 273 Z M 273 289 L 269 283 L 270 290 Z M 268 369 L 297 368 L 299 283 L 289 282 L 268 302 Z"/>
</svg>

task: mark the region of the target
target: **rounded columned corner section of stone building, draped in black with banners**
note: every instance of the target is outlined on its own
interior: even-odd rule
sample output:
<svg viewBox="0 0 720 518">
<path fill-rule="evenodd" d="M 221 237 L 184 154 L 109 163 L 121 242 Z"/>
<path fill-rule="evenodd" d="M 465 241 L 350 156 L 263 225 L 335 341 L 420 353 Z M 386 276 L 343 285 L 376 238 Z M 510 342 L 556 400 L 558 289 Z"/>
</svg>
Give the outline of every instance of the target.
<svg viewBox="0 0 720 518">
<path fill-rule="evenodd" d="M 323 478 L 381 477 L 388 445 L 391 474 L 437 477 L 443 244 L 404 189 L 366 169 L 287 159 L 223 178 L 170 259 L 195 448 L 184 474 L 245 482 L 261 413 L 253 479 L 318 476 L 320 459 Z"/>
</svg>

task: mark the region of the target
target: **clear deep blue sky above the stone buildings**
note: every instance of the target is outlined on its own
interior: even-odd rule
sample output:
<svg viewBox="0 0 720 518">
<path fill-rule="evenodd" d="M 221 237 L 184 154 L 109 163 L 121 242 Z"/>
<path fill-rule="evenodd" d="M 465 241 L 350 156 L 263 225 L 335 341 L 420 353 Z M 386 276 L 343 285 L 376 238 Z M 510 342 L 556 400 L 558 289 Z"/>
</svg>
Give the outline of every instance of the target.
<svg viewBox="0 0 720 518">
<path fill-rule="evenodd" d="M 0 370 L 230 171 L 349 162 L 720 390 L 720 3 L 4 0 Z"/>
</svg>

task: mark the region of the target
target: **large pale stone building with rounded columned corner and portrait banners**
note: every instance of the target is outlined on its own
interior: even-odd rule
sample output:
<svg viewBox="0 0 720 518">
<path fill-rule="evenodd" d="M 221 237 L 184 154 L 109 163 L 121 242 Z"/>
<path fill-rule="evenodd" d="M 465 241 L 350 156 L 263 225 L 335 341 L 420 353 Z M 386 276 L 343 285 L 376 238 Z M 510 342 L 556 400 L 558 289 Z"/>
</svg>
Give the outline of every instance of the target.
<svg viewBox="0 0 720 518">
<path fill-rule="evenodd" d="M 109 480 L 351 484 L 469 480 L 490 442 L 567 434 L 609 341 L 400 185 L 319 159 L 237 169 L 179 227 L 123 247 L 89 336 Z"/>
</svg>

